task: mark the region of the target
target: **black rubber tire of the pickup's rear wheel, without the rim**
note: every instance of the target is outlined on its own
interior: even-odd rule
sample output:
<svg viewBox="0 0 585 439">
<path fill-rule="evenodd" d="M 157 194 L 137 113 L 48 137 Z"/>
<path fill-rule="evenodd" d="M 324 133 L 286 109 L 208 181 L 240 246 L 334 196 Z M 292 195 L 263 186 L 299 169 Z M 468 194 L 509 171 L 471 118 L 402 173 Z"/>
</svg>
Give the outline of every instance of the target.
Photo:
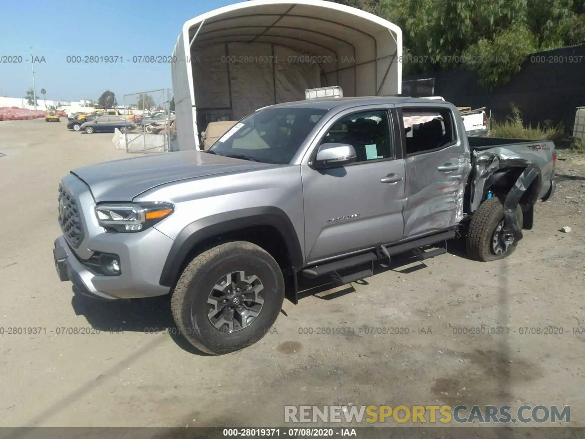
<svg viewBox="0 0 585 439">
<path fill-rule="evenodd" d="M 519 205 L 516 210 L 516 215 L 518 222 L 522 226 L 523 215 L 522 208 Z M 518 245 L 518 241 L 516 240 L 512 242 L 508 251 L 501 255 L 496 255 L 491 249 L 492 236 L 495 228 L 500 224 L 502 219 L 504 219 L 504 205 L 499 198 L 488 198 L 480 204 L 467 230 L 466 251 L 470 259 L 488 262 L 490 260 L 506 258 L 514 252 Z"/>
</svg>

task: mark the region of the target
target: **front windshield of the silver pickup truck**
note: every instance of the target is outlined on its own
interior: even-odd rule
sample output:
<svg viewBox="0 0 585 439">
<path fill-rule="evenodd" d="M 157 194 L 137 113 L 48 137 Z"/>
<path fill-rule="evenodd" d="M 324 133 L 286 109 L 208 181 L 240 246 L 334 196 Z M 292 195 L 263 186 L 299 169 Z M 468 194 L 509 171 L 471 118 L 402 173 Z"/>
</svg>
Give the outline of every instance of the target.
<svg viewBox="0 0 585 439">
<path fill-rule="evenodd" d="M 255 162 L 288 164 L 326 112 L 316 108 L 260 110 L 230 128 L 208 152 Z"/>
</svg>

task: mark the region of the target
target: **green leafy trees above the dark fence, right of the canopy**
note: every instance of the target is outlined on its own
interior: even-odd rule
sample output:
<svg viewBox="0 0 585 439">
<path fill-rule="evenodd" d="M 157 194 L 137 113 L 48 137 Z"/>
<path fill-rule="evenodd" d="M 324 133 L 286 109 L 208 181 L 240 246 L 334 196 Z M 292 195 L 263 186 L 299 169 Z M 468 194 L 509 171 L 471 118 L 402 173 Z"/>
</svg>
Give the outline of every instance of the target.
<svg viewBox="0 0 585 439">
<path fill-rule="evenodd" d="M 529 54 L 585 43 L 584 0 L 333 0 L 402 29 L 403 74 L 464 65 L 487 89 Z"/>
</svg>

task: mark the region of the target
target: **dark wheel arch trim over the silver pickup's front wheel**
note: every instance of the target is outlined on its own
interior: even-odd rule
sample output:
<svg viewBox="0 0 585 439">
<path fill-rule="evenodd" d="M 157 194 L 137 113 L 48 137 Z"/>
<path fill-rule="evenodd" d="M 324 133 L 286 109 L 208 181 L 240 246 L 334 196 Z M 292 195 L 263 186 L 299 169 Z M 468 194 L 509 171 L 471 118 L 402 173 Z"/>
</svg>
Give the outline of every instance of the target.
<svg viewBox="0 0 585 439">
<path fill-rule="evenodd" d="M 186 225 L 177 235 L 160 275 L 161 286 L 173 287 L 179 270 L 197 243 L 227 232 L 266 225 L 277 229 L 287 245 L 294 272 L 303 266 L 301 244 L 288 215 L 277 207 L 252 207 L 198 219 Z"/>
</svg>

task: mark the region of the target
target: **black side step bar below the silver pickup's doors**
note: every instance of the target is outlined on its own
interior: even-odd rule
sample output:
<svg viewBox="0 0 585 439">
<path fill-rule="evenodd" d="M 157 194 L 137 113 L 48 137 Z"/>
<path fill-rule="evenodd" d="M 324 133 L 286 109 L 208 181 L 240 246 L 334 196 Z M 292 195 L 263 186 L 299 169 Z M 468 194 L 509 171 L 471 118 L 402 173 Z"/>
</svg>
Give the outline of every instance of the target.
<svg viewBox="0 0 585 439">
<path fill-rule="evenodd" d="M 318 265 L 316 267 L 311 267 L 302 270 L 302 274 L 309 279 L 313 279 L 318 276 L 331 274 L 333 279 L 338 282 L 349 283 L 355 282 L 356 280 L 363 279 L 364 277 L 368 277 L 373 275 L 373 262 L 374 260 L 390 258 L 390 256 L 398 255 L 400 253 L 405 253 L 408 251 L 415 251 L 415 255 L 418 257 L 418 260 L 425 260 L 429 258 L 434 258 L 438 255 L 443 255 L 447 252 L 447 243 L 448 239 L 455 238 L 455 231 L 448 231 L 443 232 L 438 235 L 431 235 L 425 236 L 424 238 L 413 239 L 412 241 L 402 242 L 400 244 L 394 246 L 385 246 L 383 244 L 378 245 L 376 252 L 367 252 L 362 253 L 361 255 L 357 256 L 350 256 L 349 258 L 335 260 L 333 262 L 325 263 L 323 265 Z M 425 246 L 436 244 L 443 241 L 444 246 L 438 249 L 434 249 L 431 251 L 422 251 L 421 248 Z M 352 273 L 349 275 L 341 276 L 339 275 L 339 270 L 349 269 L 352 267 L 356 267 L 359 265 L 365 265 L 366 263 L 370 263 L 371 268 L 367 270 L 360 270 L 357 273 Z M 359 277 L 357 277 L 359 276 Z"/>
</svg>

